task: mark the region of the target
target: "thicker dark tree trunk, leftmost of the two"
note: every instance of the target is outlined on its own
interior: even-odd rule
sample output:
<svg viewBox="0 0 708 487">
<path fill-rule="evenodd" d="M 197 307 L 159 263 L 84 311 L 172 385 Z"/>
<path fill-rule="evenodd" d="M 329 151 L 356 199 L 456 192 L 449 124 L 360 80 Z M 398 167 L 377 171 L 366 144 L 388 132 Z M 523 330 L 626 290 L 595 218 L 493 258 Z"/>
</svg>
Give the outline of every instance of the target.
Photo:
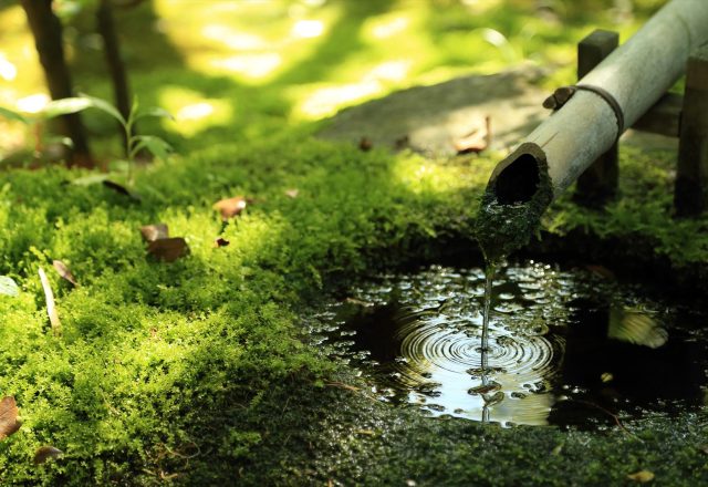
<svg viewBox="0 0 708 487">
<path fill-rule="evenodd" d="M 52 0 L 21 0 L 21 3 L 34 37 L 52 100 L 73 96 L 71 76 L 64 58 L 62 24 L 52 10 Z M 64 115 L 62 120 L 65 134 L 74 145 L 69 164 L 92 167 L 93 160 L 80 115 Z"/>
</svg>

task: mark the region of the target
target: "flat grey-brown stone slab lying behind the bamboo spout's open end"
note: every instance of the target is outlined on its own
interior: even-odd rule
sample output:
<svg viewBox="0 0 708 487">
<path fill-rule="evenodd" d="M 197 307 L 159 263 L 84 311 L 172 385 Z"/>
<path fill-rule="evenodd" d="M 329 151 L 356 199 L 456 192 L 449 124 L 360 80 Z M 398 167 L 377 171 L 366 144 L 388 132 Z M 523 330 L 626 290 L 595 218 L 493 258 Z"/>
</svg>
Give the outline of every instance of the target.
<svg viewBox="0 0 708 487">
<path fill-rule="evenodd" d="M 485 129 L 489 116 L 491 148 L 508 149 L 549 115 L 541 106 L 549 92 L 533 84 L 545 74 L 523 66 L 412 87 L 343 110 L 320 136 L 354 144 L 365 138 L 376 147 L 450 156 L 457 153 L 456 142 Z"/>
</svg>

